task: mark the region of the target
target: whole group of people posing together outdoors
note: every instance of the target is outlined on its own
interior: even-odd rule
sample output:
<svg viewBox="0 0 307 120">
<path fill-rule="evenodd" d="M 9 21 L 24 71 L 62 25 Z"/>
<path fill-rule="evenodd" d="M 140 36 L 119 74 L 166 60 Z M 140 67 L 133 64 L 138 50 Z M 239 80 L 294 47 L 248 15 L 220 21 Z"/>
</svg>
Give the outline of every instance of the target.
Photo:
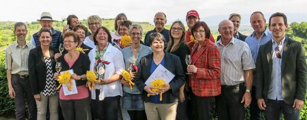
<svg viewBox="0 0 307 120">
<path fill-rule="evenodd" d="M 264 14 L 253 12 L 249 36 L 238 32 L 241 16 L 230 14 L 218 24 L 216 42 L 195 10 L 186 14 L 187 30 L 181 21 L 164 28 L 166 15 L 158 12 L 144 42 L 142 26 L 123 13 L 112 33 L 97 15 L 87 19 L 90 32 L 77 16 L 67 20 L 60 32 L 43 12 L 42 28 L 30 43 L 25 23 L 15 23 L 17 40 L 6 49 L 6 69 L 17 119 L 26 117 L 25 99 L 29 119 L 210 119 L 214 101 L 218 119 L 245 119 L 248 106 L 251 119 L 260 119 L 261 110 L 267 119 L 299 119 L 307 65 L 302 44 L 285 35 L 283 13 L 274 13 L 266 28 Z M 159 66 L 174 77 L 155 89 L 145 82 Z M 68 70 L 76 81 L 73 95 L 57 89 L 56 79 Z M 97 73 L 95 88 L 87 84 L 87 71 Z"/>
</svg>

